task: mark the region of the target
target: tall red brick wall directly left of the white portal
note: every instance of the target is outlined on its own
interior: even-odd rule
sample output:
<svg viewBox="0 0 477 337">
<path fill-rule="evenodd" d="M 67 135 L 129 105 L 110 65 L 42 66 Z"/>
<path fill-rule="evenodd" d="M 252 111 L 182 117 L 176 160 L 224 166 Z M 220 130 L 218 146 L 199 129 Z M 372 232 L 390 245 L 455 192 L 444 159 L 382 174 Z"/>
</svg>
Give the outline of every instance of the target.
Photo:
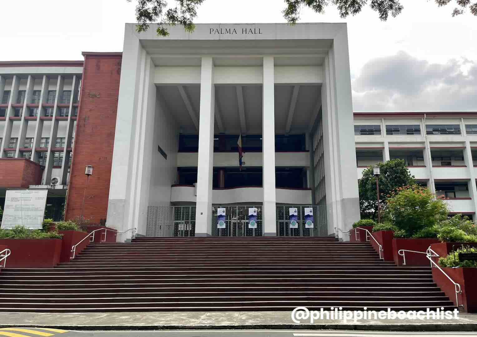
<svg viewBox="0 0 477 337">
<path fill-rule="evenodd" d="M 83 53 L 80 105 L 66 201 L 66 219 L 81 214 L 86 165 L 93 165 L 83 215 L 92 223 L 106 219 L 113 161 L 114 129 L 121 74 L 120 53 Z"/>
</svg>

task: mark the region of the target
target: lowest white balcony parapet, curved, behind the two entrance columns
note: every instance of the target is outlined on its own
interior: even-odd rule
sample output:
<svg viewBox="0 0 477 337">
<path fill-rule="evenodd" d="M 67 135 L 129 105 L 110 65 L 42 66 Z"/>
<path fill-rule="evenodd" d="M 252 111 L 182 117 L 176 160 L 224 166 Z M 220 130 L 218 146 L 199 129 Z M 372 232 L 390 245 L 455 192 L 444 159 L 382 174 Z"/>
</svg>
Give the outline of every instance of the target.
<svg viewBox="0 0 477 337">
<path fill-rule="evenodd" d="M 276 188 L 277 204 L 311 204 L 311 189 Z M 196 202 L 194 185 L 172 185 L 171 203 L 190 204 Z M 263 188 L 260 186 L 244 186 L 214 189 L 213 204 L 262 203 Z"/>
</svg>

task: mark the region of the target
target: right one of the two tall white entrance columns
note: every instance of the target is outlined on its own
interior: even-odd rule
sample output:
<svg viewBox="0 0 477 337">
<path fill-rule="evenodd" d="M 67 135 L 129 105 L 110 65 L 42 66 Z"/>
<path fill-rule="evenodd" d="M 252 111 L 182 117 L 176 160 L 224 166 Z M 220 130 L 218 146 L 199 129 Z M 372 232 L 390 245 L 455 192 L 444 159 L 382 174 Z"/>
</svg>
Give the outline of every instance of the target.
<svg viewBox="0 0 477 337">
<path fill-rule="evenodd" d="M 277 235 L 275 194 L 275 73 L 272 56 L 263 58 L 263 235 Z"/>
</svg>

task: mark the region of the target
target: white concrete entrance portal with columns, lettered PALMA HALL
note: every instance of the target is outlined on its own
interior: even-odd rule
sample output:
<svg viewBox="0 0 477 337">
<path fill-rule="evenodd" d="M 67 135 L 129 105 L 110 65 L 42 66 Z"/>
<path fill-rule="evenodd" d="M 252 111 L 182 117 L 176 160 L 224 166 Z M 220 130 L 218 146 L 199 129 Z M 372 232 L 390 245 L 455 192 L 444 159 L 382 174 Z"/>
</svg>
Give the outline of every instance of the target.
<svg viewBox="0 0 477 337">
<path fill-rule="evenodd" d="M 107 225 L 145 235 L 149 206 L 195 199 L 195 235 L 208 236 L 213 204 L 253 202 L 263 207 L 263 235 L 276 235 L 276 205 L 311 204 L 314 194 L 276 188 L 277 167 L 310 171 L 312 165 L 308 152 L 276 153 L 275 135 L 309 139 L 320 124 L 326 198 L 313 202 L 327 206 L 328 233 L 351 228 L 359 201 L 346 24 L 168 30 L 168 37 L 157 37 L 154 29 L 125 26 Z M 179 133 L 198 134 L 196 153 L 178 153 Z M 217 133 L 261 134 L 261 153 L 248 153 L 246 162 L 261 167 L 262 187 L 213 191 L 213 168 L 238 166 L 236 153 L 214 153 Z M 190 187 L 173 187 L 182 166 L 197 167 L 197 196 Z"/>
</svg>

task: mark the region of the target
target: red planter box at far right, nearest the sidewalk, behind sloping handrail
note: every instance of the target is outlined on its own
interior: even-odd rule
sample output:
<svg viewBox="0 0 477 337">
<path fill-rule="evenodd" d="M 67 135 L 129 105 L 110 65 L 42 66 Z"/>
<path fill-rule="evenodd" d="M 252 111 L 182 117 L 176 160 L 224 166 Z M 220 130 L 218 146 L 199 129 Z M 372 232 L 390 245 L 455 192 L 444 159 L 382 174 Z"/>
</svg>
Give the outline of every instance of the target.
<svg viewBox="0 0 477 337">
<path fill-rule="evenodd" d="M 446 274 L 461 286 L 462 294 L 458 294 L 459 305 L 464 305 L 464 312 L 477 312 L 477 268 L 442 268 Z M 437 268 L 432 268 L 432 278 L 446 296 L 456 304 L 456 288 L 454 284 Z M 459 308 L 460 309 L 460 308 Z"/>
</svg>

